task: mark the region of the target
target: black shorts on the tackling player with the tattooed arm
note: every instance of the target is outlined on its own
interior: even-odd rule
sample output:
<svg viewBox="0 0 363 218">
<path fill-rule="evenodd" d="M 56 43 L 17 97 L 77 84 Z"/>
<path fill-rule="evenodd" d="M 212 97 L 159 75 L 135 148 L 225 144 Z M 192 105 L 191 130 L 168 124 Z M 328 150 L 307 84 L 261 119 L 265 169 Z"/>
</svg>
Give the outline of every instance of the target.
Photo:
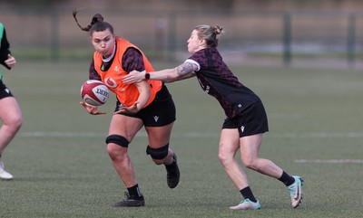
<svg viewBox="0 0 363 218">
<path fill-rule="evenodd" d="M 240 137 L 269 131 L 268 119 L 262 102 L 253 103 L 234 118 L 226 118 L 222 128 L 238 128 Z"/>
</svg>

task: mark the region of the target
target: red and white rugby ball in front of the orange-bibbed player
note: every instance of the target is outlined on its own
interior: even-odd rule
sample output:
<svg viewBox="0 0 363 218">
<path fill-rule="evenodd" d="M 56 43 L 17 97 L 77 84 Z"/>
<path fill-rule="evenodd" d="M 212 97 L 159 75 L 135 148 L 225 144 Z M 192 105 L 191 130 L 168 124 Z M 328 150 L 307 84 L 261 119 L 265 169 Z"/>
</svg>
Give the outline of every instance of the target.
<svg viewBox="0 0 363 218">
<path fill-rule="evenodd" d="M 88 80 L 82 84 L 81 97 L 87 104 L 100 106 L 107 102 L 109 90 L 102 81 Z"/>
</svg>

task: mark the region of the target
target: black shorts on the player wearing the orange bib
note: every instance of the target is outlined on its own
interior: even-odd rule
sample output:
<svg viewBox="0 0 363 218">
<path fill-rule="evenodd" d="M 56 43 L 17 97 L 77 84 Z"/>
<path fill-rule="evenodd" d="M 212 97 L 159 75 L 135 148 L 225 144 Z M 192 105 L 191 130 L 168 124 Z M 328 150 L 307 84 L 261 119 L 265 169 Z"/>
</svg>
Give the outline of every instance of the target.
<svg viewBox="0 0 363 218">
<path fill-rule="evenodd" d="M 119 110 L 120 102 L 116 102 L 116 109 Z M 172 95 L 168 88 L 162 85 L 162 90 L 156 93 L 155 99 L 146 108 L 136 114 L 120 113 L 132 118 L 141 118 L 145 127 L 163 127 L 176 119 L 176 109 Z"/>
</svg>

